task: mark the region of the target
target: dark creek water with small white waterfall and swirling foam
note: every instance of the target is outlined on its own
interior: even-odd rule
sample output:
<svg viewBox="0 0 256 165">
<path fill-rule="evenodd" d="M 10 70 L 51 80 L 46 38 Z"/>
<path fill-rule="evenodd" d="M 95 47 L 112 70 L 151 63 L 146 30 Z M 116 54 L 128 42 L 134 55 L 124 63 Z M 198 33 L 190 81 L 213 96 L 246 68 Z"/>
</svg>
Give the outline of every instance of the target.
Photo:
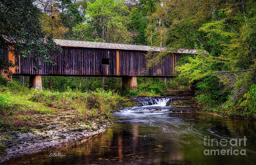
<svg viewBox="0 0 256 165">
<path fill-rule="evenodd" d="M 256 122 L 197 112 L 181 113 L 183 107 L 176 107 L 180 111 L 173 113 L 175 107 L 167 105 L 180 99 L 177 97 L 135 99 L 141 106 L 113 114 L 116 122 L 105 132 L 20 156 L 5 164 L 256 164 Z M 51 153 L 66 156 L 49 156 Z"/>
</svg>

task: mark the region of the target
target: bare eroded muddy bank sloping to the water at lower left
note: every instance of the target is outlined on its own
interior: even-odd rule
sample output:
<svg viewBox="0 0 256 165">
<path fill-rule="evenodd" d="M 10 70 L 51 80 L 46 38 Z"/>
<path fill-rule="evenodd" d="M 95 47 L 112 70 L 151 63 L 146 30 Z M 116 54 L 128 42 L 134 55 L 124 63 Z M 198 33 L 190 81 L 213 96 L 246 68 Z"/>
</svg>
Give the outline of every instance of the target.
<svg viewBox="0 0 256 165">
<path fill-rule="evenodd" d="M 0 130 L 0 143 L 7 153 L 0 155 L 0 163 L 10 158 L 42 151 L 63 142 L 76 141 L 105 131 L 108 120 L 79 121 L 76 111 L 32 115 L 35 126 L 29 130 Z"/>
</svg>

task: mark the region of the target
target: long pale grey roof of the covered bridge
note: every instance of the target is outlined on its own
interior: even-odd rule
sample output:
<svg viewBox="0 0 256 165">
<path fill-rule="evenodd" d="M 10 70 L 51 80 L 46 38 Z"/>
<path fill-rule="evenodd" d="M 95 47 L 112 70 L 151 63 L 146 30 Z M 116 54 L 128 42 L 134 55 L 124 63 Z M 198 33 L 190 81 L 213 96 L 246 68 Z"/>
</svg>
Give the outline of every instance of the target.
<svg viewBox="0 0 256 165">
<path fill-rule="evenodd" d="M 130 51 L 166 51 L 166 48 L 155 46 L 140 46 L 140 45 L 127 45 L 117 43 L 98 43 L 88 41 L 75 41 L 75 40 L 59 40 L 54 39 L 55 43 L 60 46 L 67 47 L 80 47 L 80 48 L 103 48 L 103 49 L 117 49 L 117 50 L 130 50 Z M 175 49 L 168 51 L 180 54 L 198 54 L 195 49 Z"/>
</svg>

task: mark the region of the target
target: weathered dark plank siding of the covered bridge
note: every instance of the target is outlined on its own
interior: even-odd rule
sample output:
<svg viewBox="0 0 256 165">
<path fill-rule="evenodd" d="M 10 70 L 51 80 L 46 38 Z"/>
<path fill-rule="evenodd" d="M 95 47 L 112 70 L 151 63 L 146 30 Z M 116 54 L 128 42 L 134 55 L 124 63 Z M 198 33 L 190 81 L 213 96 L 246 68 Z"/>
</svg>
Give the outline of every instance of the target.
<svg viewBox="0 0 256 165">
<path fill-rule="evenodd" d="M 43 68 L 33 69 L 29 59 L 15 55 L 15 74 L 62 76 L 141 76 L 173 77 L 179 54 L 165 57 L 163 62 L 146 71 L 145 51 L 62 47 L 62 53 L 52 51 L 55 65 L 40 63 Z M 109 65 L 102 65 L 102 58 L 109 58 Z M 144 71 L 144 72 L 143 72 Z"/>
</svg>

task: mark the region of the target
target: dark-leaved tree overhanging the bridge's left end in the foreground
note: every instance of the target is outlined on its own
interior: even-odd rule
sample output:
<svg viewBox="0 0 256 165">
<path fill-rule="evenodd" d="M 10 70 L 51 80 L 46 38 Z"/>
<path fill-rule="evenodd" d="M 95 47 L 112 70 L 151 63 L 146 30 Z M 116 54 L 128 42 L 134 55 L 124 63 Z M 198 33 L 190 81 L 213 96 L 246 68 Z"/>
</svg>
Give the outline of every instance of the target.
<svg viewBox="0 0 256 165">
<path fill-rule="evenodd" d="M 33 5 L 33 0 L 0 1 L 0 45 L 8 48 L 14 44 L 14 53 L 30 58 L 34 69 L 41 67 L 39 61 L 54 64 L 52 50 L 61 51 L 41 30 L 41 12 Z"/>
</svg>

